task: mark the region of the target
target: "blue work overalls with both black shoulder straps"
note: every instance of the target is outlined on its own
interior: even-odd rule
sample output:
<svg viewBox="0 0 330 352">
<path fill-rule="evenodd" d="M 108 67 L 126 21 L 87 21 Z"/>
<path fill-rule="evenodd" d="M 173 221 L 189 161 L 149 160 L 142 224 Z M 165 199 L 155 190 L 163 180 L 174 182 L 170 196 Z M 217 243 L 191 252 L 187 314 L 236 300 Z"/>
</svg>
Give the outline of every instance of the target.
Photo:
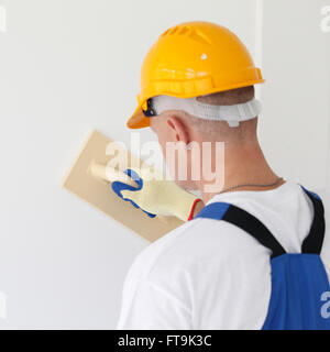
<svg viewBox="0 0 330 352">
<path fill-rule="evenodd" d="M 271 250 L 272 294 L 263 330 L 330 330 L 330 305 L 328 315 L 322 309 L 322 297 L 327 293 L 330 297 L 329 280 L 320 257 L 326 229 L 324 209 L 318 195 L 301 188 L 314 206 L 312 223 L 301 253 L 286 253 L 258 219 L 227 202 L 212 202 L 195 218 L 230 222 Z"/>
</svg>

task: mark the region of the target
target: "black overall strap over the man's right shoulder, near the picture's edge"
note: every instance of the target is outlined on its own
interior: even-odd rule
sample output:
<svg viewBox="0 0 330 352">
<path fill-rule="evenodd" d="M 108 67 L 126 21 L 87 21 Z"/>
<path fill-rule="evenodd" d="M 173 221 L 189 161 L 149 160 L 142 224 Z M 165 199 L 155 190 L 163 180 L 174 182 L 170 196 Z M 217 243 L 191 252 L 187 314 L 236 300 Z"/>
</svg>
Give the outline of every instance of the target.
<svg viewBox="0 0 330 352">
<path fill-rule="evenodd" d="M 314 207 L 314 219 L 310 226 L 309 233 L 302 242 L 301 253 L 320 254 L 326 232 L 323 204 L 321 198 L 317 194 L 304 188 L 301 185 L 300 187 L 309 197 Z"/>
</svg>

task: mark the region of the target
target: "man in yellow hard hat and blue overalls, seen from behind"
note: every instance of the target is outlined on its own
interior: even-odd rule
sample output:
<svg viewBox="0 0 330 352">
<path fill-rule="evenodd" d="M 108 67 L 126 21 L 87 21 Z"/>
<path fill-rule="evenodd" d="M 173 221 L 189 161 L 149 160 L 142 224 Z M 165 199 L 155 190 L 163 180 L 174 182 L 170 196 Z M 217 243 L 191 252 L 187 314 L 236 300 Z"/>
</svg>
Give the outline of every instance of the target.
<svg viewBox="0 0 330 352">
<path fill-rule="evenodd" d="M 125 173 L 138 188 L 113 182 L 145 216 L 185 221 L 134 260 L 118 329 L 330 329 L 322 201 L 264 157 L 254 98 L 263 81 L 244 44 L 218 24 L 175 25 L 148 51 L 128 127 L 151 127 L 165 160 L 167 144 L 178 145 L 193 170 L 206 158 L 193 142 L 210 143 L 215 163 L 223 143 L 223 182 L 206 191 L 204 175 L 157 180 L 136 169 Z"/>
</svg>

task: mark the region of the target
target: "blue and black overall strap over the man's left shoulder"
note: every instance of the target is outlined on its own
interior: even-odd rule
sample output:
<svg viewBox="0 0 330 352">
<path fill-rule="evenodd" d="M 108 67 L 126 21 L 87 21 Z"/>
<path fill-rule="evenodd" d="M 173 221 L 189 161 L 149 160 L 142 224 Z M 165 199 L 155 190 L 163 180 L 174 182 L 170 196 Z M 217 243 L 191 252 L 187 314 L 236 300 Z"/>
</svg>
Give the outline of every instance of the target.
<svg viewBox="0 0 330 352">
<path fill-rule="evenodd" d="M 239 227 L 270 249 L 272 251 L 272 258 L 285 254 L 283 246 L 258 219 L 234 205 L 211 202 L 195 217 L 195 219 L 198 218 L 223 220 Z"/>
</svg>

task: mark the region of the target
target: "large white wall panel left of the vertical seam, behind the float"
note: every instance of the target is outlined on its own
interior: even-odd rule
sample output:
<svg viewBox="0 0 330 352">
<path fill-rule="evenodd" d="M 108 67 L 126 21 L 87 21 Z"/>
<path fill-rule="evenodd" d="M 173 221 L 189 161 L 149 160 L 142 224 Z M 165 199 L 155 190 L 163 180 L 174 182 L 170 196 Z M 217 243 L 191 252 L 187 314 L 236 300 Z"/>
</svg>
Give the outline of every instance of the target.
<svg viewBox="0 0 330 352">
<path fill-rule="evenodd" d="M 166 28 L 215 21 L 253 52 L 254 4 L 0 0 L 0 329 L 114 328 L 124 275 L 147 243 L 62 179 L 89 130 L 130 140 L 140 66 Z"/>
</svg>

